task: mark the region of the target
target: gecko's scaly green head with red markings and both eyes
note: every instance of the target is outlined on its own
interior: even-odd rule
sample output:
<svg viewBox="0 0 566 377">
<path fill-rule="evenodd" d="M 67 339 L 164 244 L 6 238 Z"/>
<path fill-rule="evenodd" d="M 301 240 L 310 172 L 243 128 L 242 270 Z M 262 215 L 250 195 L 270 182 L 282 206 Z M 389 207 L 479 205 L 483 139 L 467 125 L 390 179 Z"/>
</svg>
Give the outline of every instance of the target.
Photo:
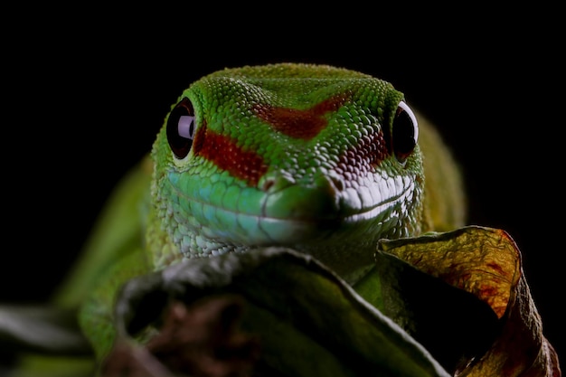
<svg viewBox="0 0 566 377">
<path fill-rule="evenodd" d="M 352 71 L 277 72 L 213 74 L 165 119 L 153 196 L 180 249 L 308 252 L 417 231 L 418 125 L 402 94 Z"/>
</svg>

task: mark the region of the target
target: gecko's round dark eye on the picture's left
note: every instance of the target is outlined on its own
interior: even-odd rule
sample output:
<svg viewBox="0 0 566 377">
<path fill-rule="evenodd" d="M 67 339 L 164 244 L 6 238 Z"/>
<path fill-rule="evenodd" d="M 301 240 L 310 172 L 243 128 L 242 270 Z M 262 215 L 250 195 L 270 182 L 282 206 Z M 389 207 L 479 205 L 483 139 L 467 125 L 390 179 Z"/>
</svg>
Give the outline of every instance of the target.
<svg viewBox="0 0 566 377">
<path fill-rule="evenodd" d="M 167 141 L 177 158 L 184 158 L 193 146 L 194 109 L 187 98 L 175 105 L 167 118 Z"/>
</svg>

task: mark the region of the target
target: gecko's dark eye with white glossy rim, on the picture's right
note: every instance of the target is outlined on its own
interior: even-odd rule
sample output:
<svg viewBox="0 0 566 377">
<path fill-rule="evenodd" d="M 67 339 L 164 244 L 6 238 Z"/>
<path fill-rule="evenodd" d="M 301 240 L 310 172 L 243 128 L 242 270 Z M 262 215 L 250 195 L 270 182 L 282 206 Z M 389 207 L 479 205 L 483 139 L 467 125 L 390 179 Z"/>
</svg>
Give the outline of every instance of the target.
<svg viewBox="0 0 566 377">
<path fill-rule="evenodd" d="M 418 139 L 419 124 L 417 118 L 410 107 L 401 101 L 395 113 L 395 118 L 393 118 L 391 132 L 391 146 L 397 161 L 405 162 L 415 149 Z"/>
</svg>

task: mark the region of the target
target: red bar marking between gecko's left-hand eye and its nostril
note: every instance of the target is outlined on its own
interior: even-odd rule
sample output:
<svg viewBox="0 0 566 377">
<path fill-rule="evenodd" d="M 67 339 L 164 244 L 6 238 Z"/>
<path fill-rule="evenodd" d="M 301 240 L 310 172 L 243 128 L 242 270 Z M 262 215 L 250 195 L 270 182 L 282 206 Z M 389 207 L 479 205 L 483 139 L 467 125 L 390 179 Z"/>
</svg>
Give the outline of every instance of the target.
<svg viewBox="0 0 566 377">
<path fill-rule="evenodd" d="M 250 186 L 257 185 L 259 178 L 268 170 L 261 156 L 253 151 L 243 150 L 230 137 L 207 129 L 206 123 L 196 131 L 193 153 L 194 156 L 202 156 L 212 161 Z"/>
</svg>

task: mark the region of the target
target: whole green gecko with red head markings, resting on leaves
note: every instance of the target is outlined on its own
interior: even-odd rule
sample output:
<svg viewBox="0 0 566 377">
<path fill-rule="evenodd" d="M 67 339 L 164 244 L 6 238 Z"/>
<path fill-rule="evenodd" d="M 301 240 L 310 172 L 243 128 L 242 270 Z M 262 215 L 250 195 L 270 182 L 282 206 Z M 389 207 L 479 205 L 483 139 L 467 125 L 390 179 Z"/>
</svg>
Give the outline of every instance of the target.
<svg viewBox="0 0 566 377">
<path fill-rule="evenodd" d="M 303 63 L 216 71 L 172 106 L 56 301 L 81 305 L 100 359 L 129 278 L 283 245 L 354 283 L 377 240 L 461 226 L 460 181 L 439 134 L 384 80 Z"/>
</svg>

